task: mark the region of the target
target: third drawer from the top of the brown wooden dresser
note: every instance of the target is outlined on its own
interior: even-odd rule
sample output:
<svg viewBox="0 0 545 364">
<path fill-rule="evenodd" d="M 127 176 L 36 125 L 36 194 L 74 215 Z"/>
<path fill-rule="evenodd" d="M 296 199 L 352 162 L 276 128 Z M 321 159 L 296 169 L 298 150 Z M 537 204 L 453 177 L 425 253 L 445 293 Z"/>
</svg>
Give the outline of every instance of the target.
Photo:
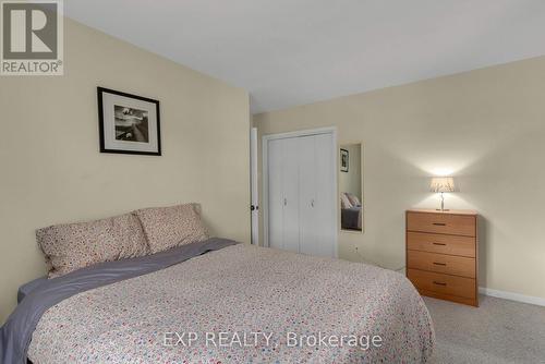
<svg viewBox="0 0 545 364">
<path fill-rule="evenodd" d="M 407 267 L 475 278 L 475 258 L 464 256 L 407 251 Z"/>
</svg>

